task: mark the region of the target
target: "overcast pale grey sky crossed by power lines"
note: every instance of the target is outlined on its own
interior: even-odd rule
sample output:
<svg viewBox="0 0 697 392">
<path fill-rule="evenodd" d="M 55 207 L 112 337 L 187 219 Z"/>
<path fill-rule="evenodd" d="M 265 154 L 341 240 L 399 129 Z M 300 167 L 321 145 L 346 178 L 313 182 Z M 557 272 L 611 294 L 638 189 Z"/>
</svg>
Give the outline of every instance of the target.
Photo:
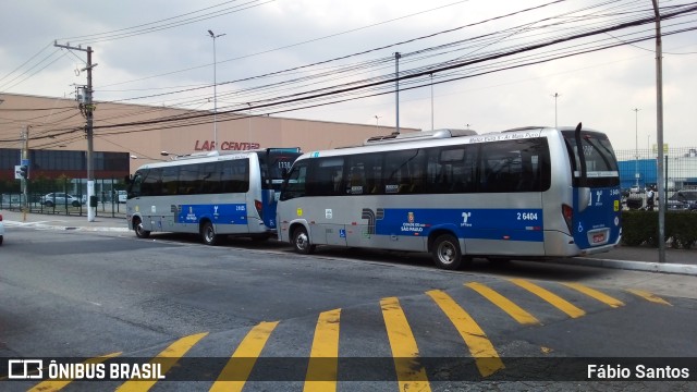
<svg viewBox="0 0 697 392">
<path fill-rule="evenodd" d="M 601 3 L 608 5 L 588 9 Z M 661 7 L 689 3 L 664 0 Z M 509 15 L 530 8 L 537 9 Z M 614 19 L 600 14 L 624 12 L 638 17 L 652 12 L 649 0 L 33 0 L 5 1 L 1 10 L 0 98 L 3 93 L 72 97 L 73 85 L 86 83 L 86 73 L 80 72 L 86 53 L 53 47 L 58 40 L 83 48 L 89 45 L 94 50 L 98 101 L 126 99 L 130 103 L 211 109 L 215 77 L 219 111 L 253 107 L 248 110 L 255 114 L 389 126 L 396 120 L 395 95 L 390 93 L 393 83 L 371 90 L 382 95 L 316 108 L 299 109 L 340 99 L 332 96 L 283 107 L 257 105 L 317 88 L 350 87 L 352 82 L 370 77 L 384 79 L 395 71 L 394 52 L 405 54 L 400 59 L 402 72 L 423 72 L 429 66 L 438 70 L 449 61 L 502 53 L 621 21 L 619 14 Z M 509 16 L 499 17 L 504 15 Z M 672 30 L 697 26 L 694 15 L 676 20 L 681 25 Z M 548 23 L 555 25 L 540 28 Z M 518 28 L 509 30 L 513 27 Z M 514 62 L 503 61 L 518 59 L 515 64 L 521 64 L 526 62 L 525 56 L 541 60 L 560 53 L 558 50 L 571 53 L 616 45 L 652 34 L 652 28 L 627 28 L 505 60 L 438 70 L 432 88 L 428 75 L 404 81 L 403 87 L 418 88 L 400 94 L 400 125 L 430 130 L 432 121 L 436 128 L 469 126 L 484 133 L 553 126 L 555 121 L 560 126 L 583 122 L 608 133 L 616 149 L 634 149 L 637 139 L 638 147 L 646 149 L 656 143 L 657 127 L 653 40 L 512 70 L 503 69 Z M 215 40 L 215 69 L 209 29 L 221 35 Z M 484 35 L 492 40 L 473 40 Z M 469 40 L 470 45 L 452 45 Z M 575 47 L 583 42 L 587 46 Z M 439 46 L 444 49 L 436 50 Z M 663 51 L 664 140 L 671 147 L 695 147 L 697 32 L 664 37 Z M 359 52 L 366 53 L 351 56 Z M 316 63 L 321 64 L 307 66 Z M 350 64 L 360 68 L 289 83 L 338 72 Z M 293 69 L 273 77 L 242 81 Z M 476 76 L 484 72 L 491 73 Z M 281 82 L 284 84 L 259 88 Z M 350 97 L 366 95 L 370 94 Z"/>
</svg>

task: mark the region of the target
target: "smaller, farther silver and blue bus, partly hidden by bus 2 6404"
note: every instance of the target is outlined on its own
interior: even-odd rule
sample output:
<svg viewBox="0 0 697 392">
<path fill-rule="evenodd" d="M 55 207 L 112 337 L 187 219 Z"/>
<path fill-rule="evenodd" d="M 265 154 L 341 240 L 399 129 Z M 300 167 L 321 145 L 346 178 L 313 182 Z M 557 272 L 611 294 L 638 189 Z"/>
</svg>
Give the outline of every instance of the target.
<svg viewBox="0 0 697 392">
<path fill-rule="evenodd" d="M 138 168 L 129 181 L 126 219 L 140 238 L 151 232 L 267 240 L 276 234 L 278 191 L 299 148 L 208 152 Z"/>
</svg>

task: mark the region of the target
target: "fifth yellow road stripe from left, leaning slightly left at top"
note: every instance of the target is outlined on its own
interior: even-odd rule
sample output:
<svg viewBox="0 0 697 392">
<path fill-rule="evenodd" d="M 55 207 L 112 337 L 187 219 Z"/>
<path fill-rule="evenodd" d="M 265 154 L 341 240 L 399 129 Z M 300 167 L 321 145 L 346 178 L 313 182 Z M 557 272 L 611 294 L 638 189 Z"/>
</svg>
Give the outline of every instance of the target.
<svg viewBox="0 0 697 392">
<path fill-rule="evenodd" d="M 426 370 L 418 362 L 418 346 L 396 297 L 380 299 L 400 391 L 430 391 Z"/>
</svg>

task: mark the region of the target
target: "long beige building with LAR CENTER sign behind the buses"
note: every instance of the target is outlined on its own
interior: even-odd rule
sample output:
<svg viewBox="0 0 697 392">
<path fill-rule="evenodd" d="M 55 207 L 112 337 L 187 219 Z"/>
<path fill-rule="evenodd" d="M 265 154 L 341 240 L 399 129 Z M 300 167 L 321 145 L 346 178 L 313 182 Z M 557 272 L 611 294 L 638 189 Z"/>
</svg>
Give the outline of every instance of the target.
<svg viewBox="0 0 697 392">
<path fill-rule="evenodd" d="M 84 107 L 75 99 L 2 94 L 0 149 L 5 157 L 0 162 L 1 177 L 13 175 L 13 166 L 19 164 L 19 159 L 9 151 L 22 149 L 21 133 L 26 127 L 29 150 L 73 151 L 82 156 L 87 149 L 85 122 Z M 185 155 L 215 150 L 216 140 L 220 150 L 301 147 L 303 151 L 311 151 L 358 145 L 370 136 L 393 131 L 393 127 L 369 124 L 249 117 L 223 111 L 213 115 L 210 111 L 131 103 L 97 101 L 94 108 L 94 151 L 127 154 L 131 173 L 146 162 L 168 159 L 161 151 Z M 52 171 L 70 171 L 73 177 L 80 176 L 83 170 L 80 164 L 62 168 L 60 156 L 63 154 L 53 155 L 56 157 L 47 161 L 51 163 L 41 167 L 35 167 L 33 161 L 33 172 L 44 171 L 45 175 L 52 176 Z M 103 155 L 102 159 L 109 160 L 108 156 Z M 119 172 L 123 170 L 120 168 Z M 109 164 L 95 168 L 95 177 L 119 174 L 112 171 Z"/>
</svg>

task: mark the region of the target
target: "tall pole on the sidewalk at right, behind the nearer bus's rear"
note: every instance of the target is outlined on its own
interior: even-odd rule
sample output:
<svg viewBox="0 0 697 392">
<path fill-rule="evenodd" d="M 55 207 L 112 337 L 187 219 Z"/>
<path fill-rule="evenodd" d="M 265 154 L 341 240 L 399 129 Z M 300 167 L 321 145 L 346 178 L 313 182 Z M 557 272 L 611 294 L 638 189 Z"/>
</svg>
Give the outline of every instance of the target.
<svg viewBox="0 0 697 392">
<path fill-rule="evenodd" d="M 665 262 L 665 173 L 663 172 L 663 51 L 661 13 L 658 0 L 651 0 L 656 13 L 656 144 L 658 145 L 658 262 Z"/>
</svg>

